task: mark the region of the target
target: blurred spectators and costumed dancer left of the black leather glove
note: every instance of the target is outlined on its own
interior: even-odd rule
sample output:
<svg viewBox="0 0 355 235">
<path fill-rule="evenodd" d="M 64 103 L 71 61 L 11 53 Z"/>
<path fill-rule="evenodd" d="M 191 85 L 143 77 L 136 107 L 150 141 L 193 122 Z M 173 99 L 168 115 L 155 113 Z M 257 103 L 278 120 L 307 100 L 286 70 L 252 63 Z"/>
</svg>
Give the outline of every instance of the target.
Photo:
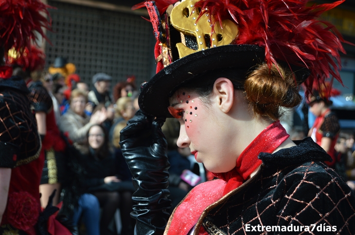
<svg viewBox="0 0 355 235">
<path fill-rule="evenodd" d="M 13 67 L 28 86 L 42 139 L 42 207 L 55 191 L 53 204 L 61 204 L 78 234 L 133 234 L 134 187 L 119 140 L 138 109 L 134 76 L 111 91 L 109 75 L 97 73 L 87 84 L 65 58 L 45 71 Z"/>
</svg>

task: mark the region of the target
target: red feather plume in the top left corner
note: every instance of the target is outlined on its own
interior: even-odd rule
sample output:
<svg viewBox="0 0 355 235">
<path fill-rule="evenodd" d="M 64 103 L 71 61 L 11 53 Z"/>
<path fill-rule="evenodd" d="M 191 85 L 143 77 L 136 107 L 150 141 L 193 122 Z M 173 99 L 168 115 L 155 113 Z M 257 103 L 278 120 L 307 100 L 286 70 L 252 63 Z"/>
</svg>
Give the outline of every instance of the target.
<svg viewBox="0 0 355 235">
<path fill-rule="evenodd" d="M 6 52 L 11 48 L 22 52 L 24 47 L 30 48 L 31 40 L 37 39 L 36 31 L 48 40 L 42 29 L 51 27 L 48 7 L 40 0 L 1 0 L 0 47 Z"/>
</svg>

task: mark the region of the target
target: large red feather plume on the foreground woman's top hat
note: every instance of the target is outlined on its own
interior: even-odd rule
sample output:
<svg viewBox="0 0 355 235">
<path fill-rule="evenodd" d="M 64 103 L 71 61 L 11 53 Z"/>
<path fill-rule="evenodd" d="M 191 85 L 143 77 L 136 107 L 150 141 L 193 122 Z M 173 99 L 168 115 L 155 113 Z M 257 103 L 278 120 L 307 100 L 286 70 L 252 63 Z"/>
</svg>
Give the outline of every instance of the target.
<svg viewBox="0 0 355 235">
<path fill-rule="evenodd" d="M 345 42 L 335 26 L 319 16 L 345 0 L 305 6 L 308 0 L 200 0 L 200 16 L 209 13 L 213 26 L 230 19 L 238 24 L 239 36 L 234 44 L 265 47 L 266 63 L 285 61 L 307 67 L 311 75 L 304 82 L 306 92 L 314 81 L 323 83 L 336 78 L 342 83 L 339 51 Z M 213 28 L 212 28 L 213 29 Z"/>
</svg>

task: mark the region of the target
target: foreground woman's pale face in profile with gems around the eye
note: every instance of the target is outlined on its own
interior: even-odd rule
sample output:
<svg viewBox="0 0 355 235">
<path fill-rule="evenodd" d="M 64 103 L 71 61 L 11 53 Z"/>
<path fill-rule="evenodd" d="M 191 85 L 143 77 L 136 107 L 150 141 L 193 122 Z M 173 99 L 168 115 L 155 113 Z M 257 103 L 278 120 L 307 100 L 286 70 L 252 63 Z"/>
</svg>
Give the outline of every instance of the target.
<svg viewBox="0 0 355 235">
<path fill-rule="evenodd" d="M 190 147 L 198 162 L 206 169 L 219 173 L 228 172 L 236 165 L 232 143 L 225 133 L 226 123 L 219 120 L 216 105 L 206 104 L 195 93 L 178 90 L 170 98 L 169 111 L 180 122 L 177 146 Z"/>
</svg>

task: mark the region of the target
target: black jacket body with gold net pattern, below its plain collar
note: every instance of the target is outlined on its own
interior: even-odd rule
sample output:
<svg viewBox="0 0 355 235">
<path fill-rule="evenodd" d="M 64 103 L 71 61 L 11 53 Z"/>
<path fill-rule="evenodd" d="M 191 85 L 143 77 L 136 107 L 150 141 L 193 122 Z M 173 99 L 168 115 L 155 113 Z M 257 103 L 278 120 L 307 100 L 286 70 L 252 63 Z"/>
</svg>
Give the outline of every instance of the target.
<svg viewBox="0 0 355 235">
<path fill-rule="evenodd" d="M 247 231 L 247 224 L 303 226 L 296 234 L 352 235 L 355 197 L 337 173 L 324 163 L 314 161 L 290 168 L 274 173 L 261 171 L 254 183 L 214 207 L 204 223 L 208 221 L 210 226 L 213 223 L 228 235 L 251 233 L 252 227 Z M 313 231 L 304 231 L 305 226 Z M 318 226 L 322 231 L 317 231 Z M 336 231 L 325 231 L 330 228 L 326 226 L 337 226 Z M 264 228 L 251 234 L 274 233 L 282 232 L 267 232 Z"/>
</svg>

